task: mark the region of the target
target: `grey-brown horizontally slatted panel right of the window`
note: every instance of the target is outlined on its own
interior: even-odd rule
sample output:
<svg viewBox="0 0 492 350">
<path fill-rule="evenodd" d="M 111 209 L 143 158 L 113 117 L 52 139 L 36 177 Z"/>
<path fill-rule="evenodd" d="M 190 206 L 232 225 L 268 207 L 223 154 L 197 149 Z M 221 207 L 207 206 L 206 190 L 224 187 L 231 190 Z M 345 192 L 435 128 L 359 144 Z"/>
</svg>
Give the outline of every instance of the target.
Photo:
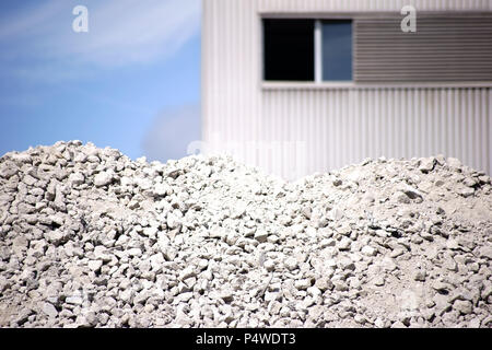
<svg viewBox="0 0 492 350">
<path fill-rule="evenodd" d="M 355 81 L 492 81 L 491 15 L 420 14 L 415 33 L 400 21 L 354 21 Z"/>
</svg>

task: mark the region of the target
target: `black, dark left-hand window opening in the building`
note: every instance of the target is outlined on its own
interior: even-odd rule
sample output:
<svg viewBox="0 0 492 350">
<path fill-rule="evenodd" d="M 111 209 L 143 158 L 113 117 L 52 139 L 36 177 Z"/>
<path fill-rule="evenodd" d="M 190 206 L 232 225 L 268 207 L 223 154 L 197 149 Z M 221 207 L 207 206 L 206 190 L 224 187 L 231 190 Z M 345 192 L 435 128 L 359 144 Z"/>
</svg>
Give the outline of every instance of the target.
<svg viewBox="0 0 492 350">
<path fill-rule="evenodd" d="M 265 80 L 314 80 L 314 21 L 263 20 Z"/>
</svg>

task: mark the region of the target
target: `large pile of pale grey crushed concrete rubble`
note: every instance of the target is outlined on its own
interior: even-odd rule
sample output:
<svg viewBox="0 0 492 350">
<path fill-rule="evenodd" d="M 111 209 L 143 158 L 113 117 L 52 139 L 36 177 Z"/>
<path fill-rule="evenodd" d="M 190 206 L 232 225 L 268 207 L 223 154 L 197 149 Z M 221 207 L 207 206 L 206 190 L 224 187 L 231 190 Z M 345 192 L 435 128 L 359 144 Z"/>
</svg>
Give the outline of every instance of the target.
<svg viewBox="0 0 492 350">
<path fill-rule="evenodd" d="M 0 326 L 491 327 L 491 240 L 456 159 L 288 183 L 58 142 L 0 159 Z"/>
</svg>

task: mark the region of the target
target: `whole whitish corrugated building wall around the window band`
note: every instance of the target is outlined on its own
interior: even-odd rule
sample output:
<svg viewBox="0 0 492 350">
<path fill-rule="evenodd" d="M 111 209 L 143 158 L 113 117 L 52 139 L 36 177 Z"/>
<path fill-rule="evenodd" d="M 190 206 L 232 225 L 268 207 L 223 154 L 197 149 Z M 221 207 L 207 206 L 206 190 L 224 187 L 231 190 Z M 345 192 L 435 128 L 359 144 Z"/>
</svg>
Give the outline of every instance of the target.
<svg viewBox="0 0 492 350">
<path fill-rule="evenodd" d="M 492 0 L 204 0 L 202 139 L 208 153 L 288 179 L 370 158 L 445 154 L 492 174 L 491 84 L 263 83 L 260 15 L 492 11 Z"/>
</svg>

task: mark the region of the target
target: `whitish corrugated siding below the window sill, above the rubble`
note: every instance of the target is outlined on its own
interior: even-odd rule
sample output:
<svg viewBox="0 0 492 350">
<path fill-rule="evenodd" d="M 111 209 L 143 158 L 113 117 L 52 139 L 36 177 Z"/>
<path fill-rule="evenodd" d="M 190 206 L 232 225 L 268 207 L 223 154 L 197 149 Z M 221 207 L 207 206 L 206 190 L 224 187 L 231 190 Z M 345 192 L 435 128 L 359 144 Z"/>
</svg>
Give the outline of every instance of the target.
<svg viewBox="0 0 492 350">
<path fill-rule="evenodd" d="M 292 178 L 365 158 L 445 154 L 491 173 L 490 89 L 330 89 L 263 92 L 263 138 L 302 142 L 306 163 L 261 165 Z M 281 156 L 281 154 L 280 154 Z"/>
</svg>

